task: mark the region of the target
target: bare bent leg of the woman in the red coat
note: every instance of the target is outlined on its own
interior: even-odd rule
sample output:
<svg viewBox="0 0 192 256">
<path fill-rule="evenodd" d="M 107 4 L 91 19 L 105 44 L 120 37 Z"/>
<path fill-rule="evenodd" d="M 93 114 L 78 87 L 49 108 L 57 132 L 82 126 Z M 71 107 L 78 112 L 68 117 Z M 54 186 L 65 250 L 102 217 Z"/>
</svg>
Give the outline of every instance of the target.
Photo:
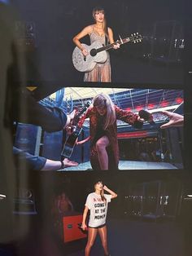
<svg viewBox="0 0 192 256">
<path fill-rule="evenodd" d="M 107 146 L 109 145 L 109 139 L 107 136 L 103 136 L 96 142 L 96 150 L 98 152 L 98 161 L 101 170 L 108 170 L 108 154 Z"/>
</svg>

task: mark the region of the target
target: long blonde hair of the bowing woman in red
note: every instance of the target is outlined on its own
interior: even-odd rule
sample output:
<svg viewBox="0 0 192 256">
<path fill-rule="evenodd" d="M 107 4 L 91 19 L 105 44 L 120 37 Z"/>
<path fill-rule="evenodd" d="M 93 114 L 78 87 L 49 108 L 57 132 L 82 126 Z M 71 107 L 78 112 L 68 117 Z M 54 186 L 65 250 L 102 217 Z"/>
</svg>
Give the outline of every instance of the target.
<svg viewBox="0 0 192 256">
<path fill-rule="evenodd" d="M 105 122 L 103 124 L 103 129 L 107 130 L 108 126 L 111 126 L 116 121 L 116 112 L 114 108 L 114 104 L 111 101 L 111 98 L 108 95 L 103 93 L 96 95 L 93 99 L 94 107 L 98 108 L 107 108 L 107 114 L 105 118 Z"/>
</svg>

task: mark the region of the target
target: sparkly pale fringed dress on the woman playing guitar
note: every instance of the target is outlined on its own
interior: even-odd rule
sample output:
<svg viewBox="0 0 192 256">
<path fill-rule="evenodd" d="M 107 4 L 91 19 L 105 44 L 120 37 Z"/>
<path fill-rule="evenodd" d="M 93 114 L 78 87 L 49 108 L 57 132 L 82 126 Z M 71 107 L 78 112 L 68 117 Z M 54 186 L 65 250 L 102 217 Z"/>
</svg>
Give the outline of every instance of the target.
<svg viewBox="0 0 192 256">
<path fill-rule="evenodd" d="M 105 35 L 100 36 L 96 31 L 94 31 L 94 26 L 92 32 L 89 34 L 90 44 L 93 42 L 101 42 L 103 45 L 106 44 Z M 111 82 L 111 64 L 110 56 L 107 51 L 107 60 L 104 63 L 97 63 L 91 71 L 85 73 L 85 82 Z"/>
</svg>

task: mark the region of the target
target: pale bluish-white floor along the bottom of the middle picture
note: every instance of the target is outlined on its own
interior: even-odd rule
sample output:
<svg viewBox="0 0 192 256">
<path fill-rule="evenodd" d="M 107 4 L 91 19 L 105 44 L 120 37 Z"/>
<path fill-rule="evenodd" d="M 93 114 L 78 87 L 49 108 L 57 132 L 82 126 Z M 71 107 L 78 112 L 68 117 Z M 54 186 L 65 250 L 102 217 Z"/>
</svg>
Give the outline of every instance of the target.
<svg viewBox="0 0 192 256">
<path fill-rule="evenodd" d="M 176 166 L 173 166 L 167 162 L 153 162 L 153 161 L 120 161 L 119 170 L 171 170 L 177 169 Z M 90 162 L 86 161 L 85 163 L 79 164 L 76 167 L 68 167 L 64 170 L 92 170 Z"/>
</svg>

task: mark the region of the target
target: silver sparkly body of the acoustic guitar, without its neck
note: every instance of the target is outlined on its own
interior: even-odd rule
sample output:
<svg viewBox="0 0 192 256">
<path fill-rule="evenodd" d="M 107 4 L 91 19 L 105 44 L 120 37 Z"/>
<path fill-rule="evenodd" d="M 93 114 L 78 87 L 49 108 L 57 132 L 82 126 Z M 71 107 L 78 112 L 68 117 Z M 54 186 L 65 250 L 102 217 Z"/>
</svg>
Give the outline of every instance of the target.
<svg viewBox="0 0 192 256">
<path fill-rule="evenodd" d="M 86 51 L 89 52 L 89 55 L 84 56 L 80 48 L 76 46 L 76 48 L 72 52 L 72 63 L 76 70 L 80 72 L 89 72 L 94 69 L 94 66 L 97 63 L 106 62 L 107 51 L 100 51 L 94 56 L 90 54 L 91 50 L 103 47 L 103 45 L 100 42 L 94 42 L 90 46 L 82 43 L 82 46 L 84 46 Z"/>
</svg>

